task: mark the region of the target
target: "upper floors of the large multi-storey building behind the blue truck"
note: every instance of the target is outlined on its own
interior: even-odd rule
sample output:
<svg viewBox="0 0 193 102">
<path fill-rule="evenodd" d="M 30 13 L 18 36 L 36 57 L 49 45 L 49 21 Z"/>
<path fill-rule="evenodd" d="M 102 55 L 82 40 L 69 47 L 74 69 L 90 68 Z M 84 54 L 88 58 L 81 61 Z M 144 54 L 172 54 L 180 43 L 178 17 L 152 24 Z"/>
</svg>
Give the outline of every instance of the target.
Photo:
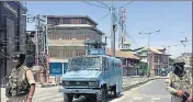
<svg viewBox="0 0 193 102">
<path fill-rule="evenodd" d="M 98 23 L 83 15 L 45 15 L 48 23 L 49 60 L 84 55 L 84 39 L 102 41 Z"/>
</svg>

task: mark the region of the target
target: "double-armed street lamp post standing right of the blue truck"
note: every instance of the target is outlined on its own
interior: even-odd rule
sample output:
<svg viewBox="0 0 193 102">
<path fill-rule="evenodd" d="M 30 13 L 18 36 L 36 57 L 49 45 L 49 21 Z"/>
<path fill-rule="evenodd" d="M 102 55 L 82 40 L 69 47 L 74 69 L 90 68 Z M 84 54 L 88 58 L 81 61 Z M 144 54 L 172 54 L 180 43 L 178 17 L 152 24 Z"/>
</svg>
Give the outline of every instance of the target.
<svg viewBox="0 0 193 102">
<path fill-rule="evenodd" d="M 139 34 L 147 34 L 148 35 L 148 54 L 147 54 L 147 61 L 148 61 L 148 71 L 147 71 L 147 75 L 149 73 L 149 66 L 150 66 L 150 58 L 149 58 L 149 42 L 150 42 L 150 34 L 154 34 L 154 33 L 157 33 L 157 32 L 160 32 L 160 30 L 157 30 L 157 31 L 154 31 L 154 32 L 149 32 L 149 33 L 139 33 Z"/>
</svg>

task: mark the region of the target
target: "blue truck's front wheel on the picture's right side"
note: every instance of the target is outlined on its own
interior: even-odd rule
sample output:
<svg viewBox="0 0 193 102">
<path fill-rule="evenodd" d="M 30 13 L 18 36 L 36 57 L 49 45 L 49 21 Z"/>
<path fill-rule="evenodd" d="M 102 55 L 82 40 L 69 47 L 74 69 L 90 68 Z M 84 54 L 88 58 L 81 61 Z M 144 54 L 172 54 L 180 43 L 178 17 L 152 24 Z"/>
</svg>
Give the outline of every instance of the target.
<svg viewBox="0 0 193 102">
<path fill-rule="evenodd" d="M 102 88 L 96 94 L 96 102 L 106 102 L 106 88 Z"/>
</svg>

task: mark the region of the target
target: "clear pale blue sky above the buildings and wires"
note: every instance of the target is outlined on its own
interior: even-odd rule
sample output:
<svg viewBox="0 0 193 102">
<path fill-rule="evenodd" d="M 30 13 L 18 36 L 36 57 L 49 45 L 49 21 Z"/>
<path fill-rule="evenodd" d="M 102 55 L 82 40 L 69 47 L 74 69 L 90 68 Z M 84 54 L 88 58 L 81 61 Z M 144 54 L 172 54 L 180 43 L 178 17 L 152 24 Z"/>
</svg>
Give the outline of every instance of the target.
<svg viewBox="0 0 193 102">
<path fill-rule="evenodd" d="M 130 1 L 115 1 L 113 3 L 118 11 L 121 5 L 128 2 Z M 94 1 L 91 3 L 102 5 Z M 112 5 L 111 1 L 104 3 L 109 7 Z M 110 11 L 104 8 L 82 1 L 27 1 L 26 8 L 27 13 L 34 15 L 89 15 L 99 23 L 99 30 L 104 32 L 106 36 L 111 35 L 111 15 Z M 180 56 L 184 52 L 192 52 L 191 1 L 135 1 L 124 8 L 126 9 L 127 32 L 132 36 L 127 37 L 127 42 L 132 45 L 130 48 L 148 45 L 147 35 L 140 35 L 140 32 L 148 33 L 160 30 L 160 32 L 150 35 L 150 47 L 171 46 L 169 54 L 172 57 Z M 34 24 L 27 24 L 27 30 L 34 30 Z M 115 36 L 117 49 L 118 33 Z M 186 47 L 180 42 L 185 37 L 189 41 Z M 107 39 L 107 46 L 111 46 L 110 42 Z"/>
</svg>

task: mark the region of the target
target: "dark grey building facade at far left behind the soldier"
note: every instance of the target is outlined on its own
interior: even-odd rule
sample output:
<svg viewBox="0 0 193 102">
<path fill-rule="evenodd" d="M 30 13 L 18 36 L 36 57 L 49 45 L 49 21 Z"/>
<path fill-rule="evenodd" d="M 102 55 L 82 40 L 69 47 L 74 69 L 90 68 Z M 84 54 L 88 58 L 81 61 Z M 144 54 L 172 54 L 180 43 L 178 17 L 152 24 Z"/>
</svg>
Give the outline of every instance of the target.
<svg viewBox="0 0 193 102">
<path fill-rule="evenodd" d="M 19 1 L 0 1 L 0 70 L 1 78 L 13 68 L 10 55 L 26 53 L 26 8 Z"/>
</svg>

